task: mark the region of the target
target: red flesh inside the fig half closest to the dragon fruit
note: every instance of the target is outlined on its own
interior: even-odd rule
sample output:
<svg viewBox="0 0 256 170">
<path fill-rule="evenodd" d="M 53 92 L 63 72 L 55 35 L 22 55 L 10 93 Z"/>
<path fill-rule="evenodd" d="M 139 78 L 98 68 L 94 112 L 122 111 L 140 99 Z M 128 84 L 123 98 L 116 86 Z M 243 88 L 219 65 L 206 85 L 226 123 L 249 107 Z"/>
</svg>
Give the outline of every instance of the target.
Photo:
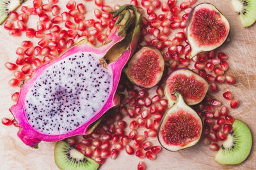
<svg viewBox="0 0 256 170">
<path fill-rule="evenodd" d="M 143 87 L 148 87 L 156 81 L 157 73 L 161 73 L 159 54 L 154 50 L 145 50 L 140 54 L 136 64 L 131 66 L 129 75 Z"/>
</svg>

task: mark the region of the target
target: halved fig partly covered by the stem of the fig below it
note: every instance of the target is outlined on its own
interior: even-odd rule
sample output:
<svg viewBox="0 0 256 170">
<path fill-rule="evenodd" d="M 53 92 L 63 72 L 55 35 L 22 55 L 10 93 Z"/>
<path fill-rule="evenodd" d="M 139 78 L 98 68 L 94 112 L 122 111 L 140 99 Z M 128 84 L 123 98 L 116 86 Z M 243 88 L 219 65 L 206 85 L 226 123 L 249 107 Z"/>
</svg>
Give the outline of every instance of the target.
<svg viewBox="0 0 256 170">
<path fill-rule="evenodd" d="M 164 84 L 164 94 L 168 99 L 168 106 L 176 101 L 173 95 L 176 91 L 184 97 L 188 105 L 200 103 L 208 90 L 208 83 L 200 75 L 187 68 L 180 68 L 173 71 Z"/>
</svg>

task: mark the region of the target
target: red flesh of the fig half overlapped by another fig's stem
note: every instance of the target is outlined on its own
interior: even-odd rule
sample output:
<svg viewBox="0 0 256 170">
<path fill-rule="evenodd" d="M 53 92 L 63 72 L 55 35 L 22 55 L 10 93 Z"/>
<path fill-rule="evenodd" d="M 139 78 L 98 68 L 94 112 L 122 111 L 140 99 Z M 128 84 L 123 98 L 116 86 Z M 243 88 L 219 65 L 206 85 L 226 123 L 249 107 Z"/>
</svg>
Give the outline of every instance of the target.
<svg viewBox="0 0 256 170">
<path fill-rule="evenodd" d="M 169 94 L 174 94 L 175 91 L 179 91 L 184 100 L 191 99 L 197 100 L 205 95 L 204 83 L 197 81 L 195 75 L 186 76 L 185 74 L 175 74 L 172 78 L 168 78 L 167 89 Z M 176 100 L 175 95 L 171 95 L 172 100 Z"/>
</svg>

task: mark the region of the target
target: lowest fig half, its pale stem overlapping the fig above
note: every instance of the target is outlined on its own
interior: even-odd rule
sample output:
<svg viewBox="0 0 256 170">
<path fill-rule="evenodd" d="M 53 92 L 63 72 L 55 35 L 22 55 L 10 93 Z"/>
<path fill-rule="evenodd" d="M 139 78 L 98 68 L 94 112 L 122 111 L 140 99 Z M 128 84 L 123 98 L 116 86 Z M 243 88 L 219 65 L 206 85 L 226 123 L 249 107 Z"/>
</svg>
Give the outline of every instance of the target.
<svg viewBox="0 0 256 170">
<path fill-rule="evenodd" d="M 177 101 L 166 111 L 158 130 L 159 143 L 166 150 L 177 151 L 198 143 L 202 134 L 202 120 L 176 92 Z"/>
</svg>

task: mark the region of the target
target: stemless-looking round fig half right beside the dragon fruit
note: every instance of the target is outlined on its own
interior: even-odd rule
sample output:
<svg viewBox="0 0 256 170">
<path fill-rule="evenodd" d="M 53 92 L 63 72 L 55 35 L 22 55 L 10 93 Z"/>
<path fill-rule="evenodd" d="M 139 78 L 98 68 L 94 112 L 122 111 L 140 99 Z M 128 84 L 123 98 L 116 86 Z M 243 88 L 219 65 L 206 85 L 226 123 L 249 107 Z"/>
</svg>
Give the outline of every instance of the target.
<svg viewBox="0 0 256 170">
<path fill-rule="evenodd" d="M 124 69 L 127 78 L 140 87 L 151 88 L 161 80 L 164 59 L 159 50 L 147 46 L 136 52 Z"/>
</svg>

